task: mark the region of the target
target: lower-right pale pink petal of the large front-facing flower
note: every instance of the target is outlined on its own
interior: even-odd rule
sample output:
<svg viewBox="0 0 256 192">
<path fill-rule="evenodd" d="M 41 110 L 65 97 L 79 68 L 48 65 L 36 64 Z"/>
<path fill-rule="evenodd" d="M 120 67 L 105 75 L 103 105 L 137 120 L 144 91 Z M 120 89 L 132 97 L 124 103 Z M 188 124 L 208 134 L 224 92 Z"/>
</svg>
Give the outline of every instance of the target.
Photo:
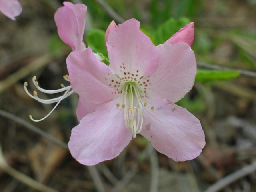
<svg viewBox="0 0 256 192">
<path fill-rule="evenodd" d="M 143 128 L 146 137 L 158 152 L 175 161 L 192 160 L 205 146 L 200 121 L 185 108 L 160 98 L 148 100 L 143 111 Z M 150 108 L 154 105 L 154 109 Z"/>
</svg>

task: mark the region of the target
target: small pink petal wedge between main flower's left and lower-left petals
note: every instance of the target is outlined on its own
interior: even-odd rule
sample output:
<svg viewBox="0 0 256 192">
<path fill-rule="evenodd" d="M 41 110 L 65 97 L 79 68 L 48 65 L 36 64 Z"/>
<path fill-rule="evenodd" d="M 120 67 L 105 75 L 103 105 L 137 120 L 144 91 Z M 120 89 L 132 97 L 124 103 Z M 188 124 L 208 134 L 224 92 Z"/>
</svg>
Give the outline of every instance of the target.
<svg viewBox="0 0 256 192">
<path fill-rule="evenodd" d="M 81 97 L 79 97 L 77 108 L 76 108 L 76 116 L 78 121 L 80 121 L 87 114 L 94 112 L 97 107 L 98 107 L 98 104 L 84 101 Z"/>
</svg>

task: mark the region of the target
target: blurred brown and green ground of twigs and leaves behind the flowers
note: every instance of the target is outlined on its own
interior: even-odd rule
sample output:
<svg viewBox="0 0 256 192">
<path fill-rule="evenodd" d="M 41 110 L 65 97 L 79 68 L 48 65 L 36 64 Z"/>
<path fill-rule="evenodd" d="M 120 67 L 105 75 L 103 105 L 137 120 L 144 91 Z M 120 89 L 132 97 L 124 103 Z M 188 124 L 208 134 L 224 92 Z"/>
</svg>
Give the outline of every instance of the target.
<svg viewBox="0 0 256 192">
<path fill-rule="evenodd" d="M 101 0 L 82 2 L 88 6 L 86 45 L 104 55 L 104 31 L 112 20 L 138 19 L 155 44 L 194 21 L 198 75 L 177 104 L 200 119 L 206 146 L 198 158 L 175 162 L 138 136 L 114 160 L 93 167 L 76 162 L 56 139 L 67 143 L 78 123 L 78 95 L 34 123 L 28 115 L 42 118 L 54 105 L 38 103 L 23 89 L 28 81 L 30 92 L 35 90 L 34 75 L 46 89 L 65 85 L 71 49 L 59 39 L 54 23 L 62 1 L 20 0 L 23 12 L 15 22 L 0 13 L 0 192 L 37 191 L 24 184 L 24 175 L 42 183 L 42 191 L 255 192 L 256 0 L 105 0 L 118 17 Z M 54 138 L 38 134 L 31 124 Z M 13 169 L 3 168 L 3 158 Z"/>
</svg>

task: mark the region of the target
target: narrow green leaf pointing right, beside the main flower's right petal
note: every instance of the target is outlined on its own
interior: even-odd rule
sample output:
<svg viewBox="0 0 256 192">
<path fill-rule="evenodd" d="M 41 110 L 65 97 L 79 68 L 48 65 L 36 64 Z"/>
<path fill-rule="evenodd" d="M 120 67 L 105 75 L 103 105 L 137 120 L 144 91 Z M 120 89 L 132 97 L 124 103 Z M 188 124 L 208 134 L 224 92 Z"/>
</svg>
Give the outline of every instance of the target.
<svg viewBox="0 0 256 192">
<path fill-rule="evenodd" d="M 210 82 L 219 80 L 228 80 L 236 78 L 240 75 L 236 71 L 217 71 L 198 69 L 196 74 L 196 82 Z"/>
</svg>

